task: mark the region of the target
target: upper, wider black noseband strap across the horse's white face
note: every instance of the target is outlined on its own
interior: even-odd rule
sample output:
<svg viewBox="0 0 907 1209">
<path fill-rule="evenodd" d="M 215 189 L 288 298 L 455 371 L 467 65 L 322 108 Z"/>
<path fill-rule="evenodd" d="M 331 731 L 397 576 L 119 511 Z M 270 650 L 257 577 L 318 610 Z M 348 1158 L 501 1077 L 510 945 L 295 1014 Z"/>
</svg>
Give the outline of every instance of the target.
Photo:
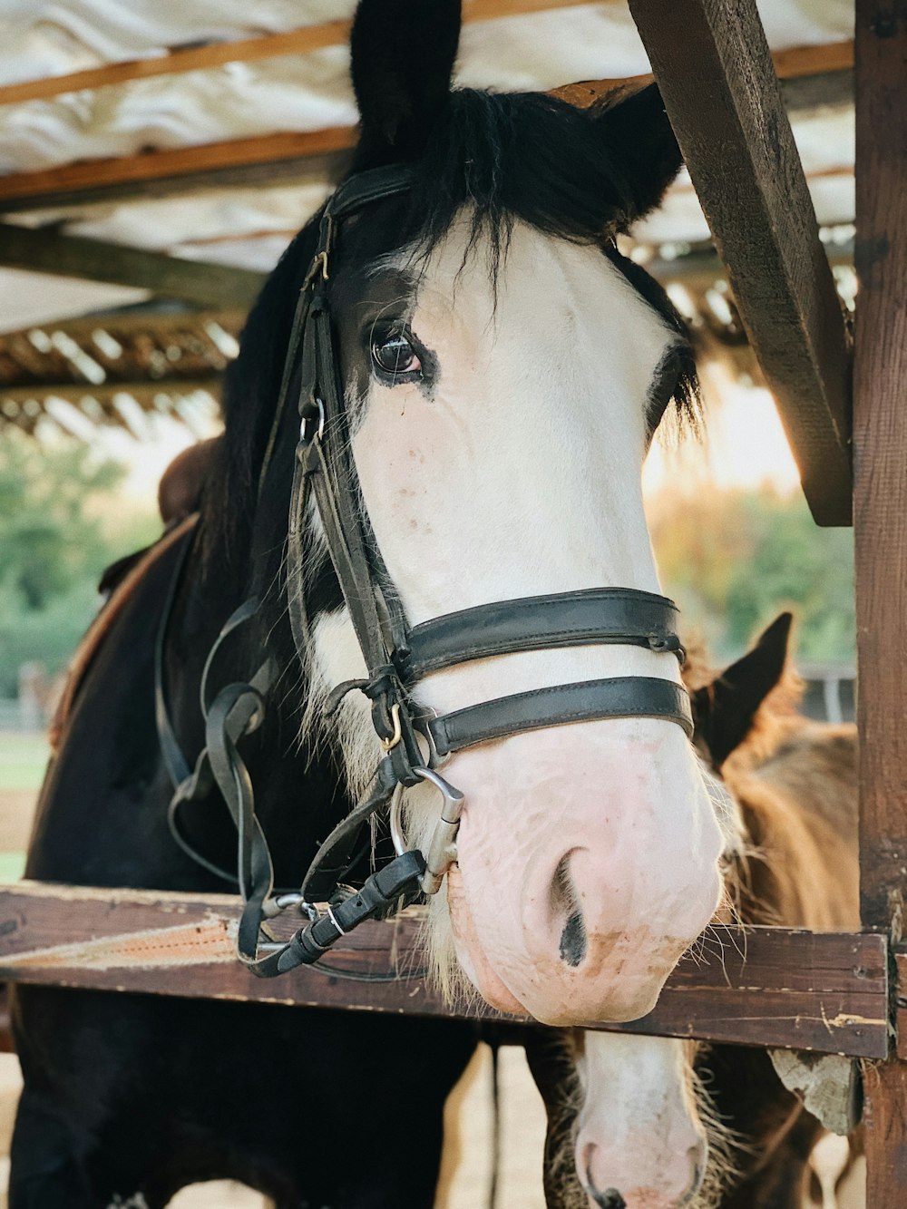
<svg viewBox="0 0 907 1209">
<path fill-rule="evenodd" d="M 522 596 L 445 613 L 414 626 L 404 666 L 406 678 L 416 681 L 470 659 L 593 643 L 647 647 L 659 654 L 671 650 L 682 663 L 677 619 L 674 601 L 634 588 Z"/>
</svg>

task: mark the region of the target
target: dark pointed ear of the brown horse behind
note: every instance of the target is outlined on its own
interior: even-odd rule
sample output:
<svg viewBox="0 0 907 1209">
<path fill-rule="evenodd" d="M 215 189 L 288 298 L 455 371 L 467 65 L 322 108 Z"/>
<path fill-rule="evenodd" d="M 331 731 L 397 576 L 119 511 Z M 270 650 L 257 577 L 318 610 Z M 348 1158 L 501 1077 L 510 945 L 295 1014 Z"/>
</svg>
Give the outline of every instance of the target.
<svg viewBox="0 0 907 1209">
<path fill-rule="evenodd" d="M 692 694 L 697 739 L 721 768 L 752 729 L 756 711 L 778 684 L 787 661 L 791 613 L 781 613 L 764 630 L 752 650 L 717 679 Z"/>
</svg>

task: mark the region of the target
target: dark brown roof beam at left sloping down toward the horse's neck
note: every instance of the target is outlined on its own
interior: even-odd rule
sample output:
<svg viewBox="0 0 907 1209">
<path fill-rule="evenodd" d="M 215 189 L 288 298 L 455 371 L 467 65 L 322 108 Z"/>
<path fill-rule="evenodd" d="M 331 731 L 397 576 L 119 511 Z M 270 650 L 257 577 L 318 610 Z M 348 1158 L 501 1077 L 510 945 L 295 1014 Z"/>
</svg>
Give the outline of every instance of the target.
<svg viewBox="0 0 907 1209">
<path fill-rule="evenodd" d="M 200 306 L 250 307 L 266 278 L 230 265 L 180 260 L 161 251 L 0 222 L 0 265 L 54 277 L 134 285 Z"/>
</svg>

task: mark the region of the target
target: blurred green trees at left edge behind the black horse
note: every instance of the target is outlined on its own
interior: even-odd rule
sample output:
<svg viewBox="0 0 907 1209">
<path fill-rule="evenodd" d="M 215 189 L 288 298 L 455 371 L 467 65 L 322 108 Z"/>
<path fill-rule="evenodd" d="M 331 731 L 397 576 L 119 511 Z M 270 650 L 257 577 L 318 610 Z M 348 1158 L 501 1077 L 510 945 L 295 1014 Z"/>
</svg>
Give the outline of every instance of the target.
<svg viewBox="0 0 907 1209">
<path fill-rule="evenodd" d="M 59 671 L 98 607 L 110 562 L 160 533 L 126 513 L 123 468 L 81 445 L 48 447 L 5 428 L 0 440 L 0 696 L 37 660 Z"/>
</svg>

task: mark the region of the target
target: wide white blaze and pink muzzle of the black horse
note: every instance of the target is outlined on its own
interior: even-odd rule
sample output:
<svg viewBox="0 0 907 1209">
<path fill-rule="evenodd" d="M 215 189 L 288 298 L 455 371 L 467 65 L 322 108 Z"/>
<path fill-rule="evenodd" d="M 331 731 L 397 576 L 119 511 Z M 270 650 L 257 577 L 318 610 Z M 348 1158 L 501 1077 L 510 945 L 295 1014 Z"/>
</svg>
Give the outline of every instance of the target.
<svg viewBox="0 0 907 1209">
<path fill-rule="evenodd" d="M 410 623 L 542 592 L 658 591 L 640 472 L 647 392 L 675 334 L 595 248 L 518 222 L 495 296 L 481 251 L 462 266 L 463 238 L 455 229 L 433 255 L 412 308 L 439 366 L 431 399 L 372 382 L 353 438 Z M 314 632 L 329 684 L 363 673 L 343 614 Z M 443 713 L 626 675 L 678 669 L 636 647 L 542 650 L 439 672 L 417 696 Z M 352 695 L 342 719 L 349 741 L 359 723 L 368 736 L 348 754 L 362 781 L 377 754 L 365 702 Z M 682 730 L 551 727 L 463 752 L 445 775 L 467 797 L 452 937 L 481 994 L 550 1023 L 645 1014 L 720 896 L 723 840 Z M 437 796 L 411 798 L 414 815 L 431 803 L 424 831 Z"/>
</svg>

